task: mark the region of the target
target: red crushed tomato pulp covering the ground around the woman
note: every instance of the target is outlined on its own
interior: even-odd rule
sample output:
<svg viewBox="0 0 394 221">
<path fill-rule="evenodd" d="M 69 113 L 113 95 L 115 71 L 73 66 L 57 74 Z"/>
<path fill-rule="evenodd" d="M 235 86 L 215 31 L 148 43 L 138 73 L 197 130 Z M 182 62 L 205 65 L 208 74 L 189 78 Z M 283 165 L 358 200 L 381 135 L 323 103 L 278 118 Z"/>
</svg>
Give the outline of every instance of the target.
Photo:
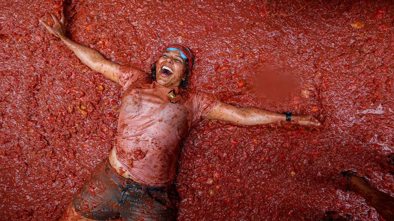
<svg viewBox="0 0 394 221">
<path fill-rule="evenodd" d="M 113 146 L 121 88 L 38 23 L 63 4 L 2 3 L 2 220 L 57 220 Z M 178 220 L 380 219 L 360 195 L 344 192 L 338 173 L 358 170 L 372 186 L 394 192 L 393 176 L 382 168 L 394 146 L 392 6 L 312 1 L 277 16 L 300 7 L 279 0 L 64 5 L 67 36 L 111 61 L 149 71 L 164 44 L 182 42 L 197 58 L 189 88 L 239 107 L 312 114 L 323 123 L 325 130 L 199 123 L 180 154 Z M 163 13 L 168 9 L 176 15 Z M 278 82 L 291 73 L 299 88 L 275 97 L 252 87 L 252 70 L 269 65 L 289 74 Z"/>
</svg>

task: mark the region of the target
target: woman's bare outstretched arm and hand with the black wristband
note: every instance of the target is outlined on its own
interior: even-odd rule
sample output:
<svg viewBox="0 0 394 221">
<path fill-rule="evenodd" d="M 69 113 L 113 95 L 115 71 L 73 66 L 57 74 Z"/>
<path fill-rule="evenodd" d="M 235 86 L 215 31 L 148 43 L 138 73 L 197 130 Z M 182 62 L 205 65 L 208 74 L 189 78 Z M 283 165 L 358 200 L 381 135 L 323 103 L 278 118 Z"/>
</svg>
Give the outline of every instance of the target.
<svg viewBox="0 0 394 221">
<path fill-rule="evenodd" d="M 285 114 L 278 114 L 255 107 L 234 107 L 220 102 L 207 116 L 210 120 L 225 120 L 242 125 L 258 125 L 286 120 Z M 301 125 L 318 126 L 320 122 L 311 115 L 293 115 Z"/>
</svg>

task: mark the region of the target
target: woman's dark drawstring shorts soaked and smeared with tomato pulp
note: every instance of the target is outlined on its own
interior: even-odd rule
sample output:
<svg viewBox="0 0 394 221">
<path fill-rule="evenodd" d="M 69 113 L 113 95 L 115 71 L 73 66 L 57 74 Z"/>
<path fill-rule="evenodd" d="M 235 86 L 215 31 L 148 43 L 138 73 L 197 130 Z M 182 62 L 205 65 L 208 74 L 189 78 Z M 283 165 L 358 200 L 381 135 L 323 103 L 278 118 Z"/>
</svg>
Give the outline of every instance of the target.
<svg viewBox="0 0 394 221">
<path fill-rule="evenodd" d="M 100 163 L 90 180 L 74 195 L 76 212 L 88 219 L 175 220 L 179 202 L 175 185 L 147 186 L 120 176 L 108 159 Z"/>
</svg>

